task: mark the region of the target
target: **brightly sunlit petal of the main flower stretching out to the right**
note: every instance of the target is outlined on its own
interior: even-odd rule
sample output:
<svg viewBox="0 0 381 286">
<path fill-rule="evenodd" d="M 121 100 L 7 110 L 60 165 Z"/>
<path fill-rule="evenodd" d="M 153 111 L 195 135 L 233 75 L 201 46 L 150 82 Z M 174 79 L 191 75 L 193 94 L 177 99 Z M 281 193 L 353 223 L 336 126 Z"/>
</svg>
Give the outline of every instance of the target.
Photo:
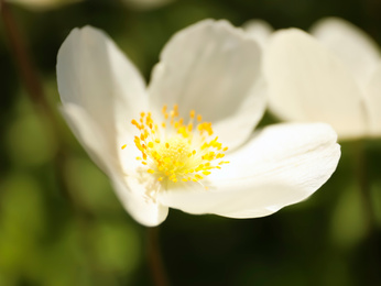
<svg viewBox="0 0 381 286">
<path fill-rule="evenodd" d="M 160 194 L 160 201 L 190 213 L 254 218 L 304 200 L 336 169 L 340 147 L 323 123 L 265 128 L 227 160 L 205 184 L 185 183 Z"/>
</svg>

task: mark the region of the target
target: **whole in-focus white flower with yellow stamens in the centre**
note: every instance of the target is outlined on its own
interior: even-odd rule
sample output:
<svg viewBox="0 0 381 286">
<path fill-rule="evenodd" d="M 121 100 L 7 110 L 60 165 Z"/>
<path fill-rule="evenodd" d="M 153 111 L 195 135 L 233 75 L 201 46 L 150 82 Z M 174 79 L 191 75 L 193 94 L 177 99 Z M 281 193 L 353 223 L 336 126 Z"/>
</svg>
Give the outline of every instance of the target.
<svg viewBox="0 0 381 286">
<path fill-rule="evenodd" d="M 165 220 L 168 207 L 268 216 L 329 178 L 340 156 L 330 127 L 279 124 L 252 134 L 265 108 L 259 72 L 257 44 L 211 20 L 166 44 L 148 88 L 94 28 L 72 31 L 57 59 L 69 127 L 145 226 Z"/>
</svg>

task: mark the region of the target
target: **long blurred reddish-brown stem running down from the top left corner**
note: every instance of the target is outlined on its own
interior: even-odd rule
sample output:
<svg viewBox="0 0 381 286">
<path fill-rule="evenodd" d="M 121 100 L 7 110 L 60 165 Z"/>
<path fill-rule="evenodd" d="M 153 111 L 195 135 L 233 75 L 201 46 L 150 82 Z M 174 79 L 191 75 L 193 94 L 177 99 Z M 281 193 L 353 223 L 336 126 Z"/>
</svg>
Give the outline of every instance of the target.
<svg viewBox="0 0 381 286">
<path fill-rule="evenodd" d="M 96 260 L 94 258 L 92 252 L 89 249 L 88 241 L 94 239 L 89 237 L 90 222 L 94 219 L 92 215 L 86 210 L 83 206 L 81 200 L 70 191 L 67 178 L 65 177 L 65 165 L 67 160 L 67 145 L 65 138 L 62 135 L 61 125 L 55 117 L 55 113 L 51 109 L 48 102 L 46 101 L 45 92 L 43 89 L 42 81 L 37 76 L 37 69 L 33 65 L 30 57 L 28 45 L 23 41 L 22 34 L 18 29 L 17 21 L 13 18 L 12 11 L 8 7 L 4 0 L 0 0 L 0 11 L 2 21 L 4 23 L 4 31 L 8 37 L 10 48 L 14 56 L 14 62 L 20 74 L 21 81 L 26 90 L 33 107 L 36 109 L 37 113 L 45 118 L 45 121 L 51 124 L 50 131 L 54 133 L 58 142 L 58 151 L 54 158 L 54 170 L 57 185 L 64 198 L 68 201 L 69 207 L 76 213 L 76 218 L 79 222 L 81 230 L 81 243 L 85 250 L 90 267 L 92 270 L 94 280 L 100 278 L 99 272 L 97 271 Z M 105 284 L 104 284 L 105 285 Z"/>
</svg>

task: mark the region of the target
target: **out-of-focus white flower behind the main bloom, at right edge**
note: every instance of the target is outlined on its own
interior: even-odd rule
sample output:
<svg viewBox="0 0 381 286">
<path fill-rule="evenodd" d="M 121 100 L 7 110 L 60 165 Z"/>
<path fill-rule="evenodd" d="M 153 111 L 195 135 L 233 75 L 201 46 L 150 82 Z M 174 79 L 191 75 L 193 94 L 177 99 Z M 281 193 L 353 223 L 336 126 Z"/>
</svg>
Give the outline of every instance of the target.
<svg viewBox="0 0 381 286">
<path fill-rule="evenodd" d="M 272 34 L 263 69 L 271 110 L 291 121 L 329 123 L 339 139 L 381 135 L 381 54 L 361 30 L 336 18 L 312 35 Z"/>
</svg>

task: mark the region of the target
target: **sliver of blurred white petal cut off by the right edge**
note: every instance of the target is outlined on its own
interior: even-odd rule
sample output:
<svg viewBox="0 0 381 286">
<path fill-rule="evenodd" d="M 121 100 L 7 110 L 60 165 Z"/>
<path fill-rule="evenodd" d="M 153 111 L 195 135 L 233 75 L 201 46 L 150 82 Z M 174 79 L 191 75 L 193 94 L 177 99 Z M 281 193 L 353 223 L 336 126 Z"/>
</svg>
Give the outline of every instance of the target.
<svg viewBox="0 0 381 286">
<path fill-rule="evenodd" d="M 367 107 L 369 112 L 370 134 L 381 135 L 381 63 L 373 73 L 366 89 Z"/>
</svg>

